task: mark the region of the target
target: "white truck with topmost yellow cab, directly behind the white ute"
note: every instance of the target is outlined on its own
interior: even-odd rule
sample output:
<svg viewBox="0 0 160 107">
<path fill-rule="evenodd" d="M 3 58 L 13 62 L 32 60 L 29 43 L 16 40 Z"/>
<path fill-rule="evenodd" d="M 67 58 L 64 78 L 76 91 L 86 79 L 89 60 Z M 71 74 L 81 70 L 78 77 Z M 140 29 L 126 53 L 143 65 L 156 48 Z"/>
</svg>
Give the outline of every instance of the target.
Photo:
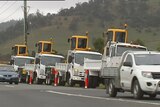
<svg viewBox="0 0 160 107">
<path fill-rule="evenodd" d="M 101 60 L 84 60 L 84 69 L 88 73 L 88 87 L 96 87 L 93 83 L 94 79 L 90 79 L 91 75 L 104 81 L 108 78 L 108 70 L 112 70 L 120 65 L 121 56 L 127 50 L 145 51 L 146 47 L 134 45 L 127 42 L 126 29 L 108 29 L 105 38 L 105 47 Z M 108 69 L 109 67 L 109 69 Z"/>
</svg>

